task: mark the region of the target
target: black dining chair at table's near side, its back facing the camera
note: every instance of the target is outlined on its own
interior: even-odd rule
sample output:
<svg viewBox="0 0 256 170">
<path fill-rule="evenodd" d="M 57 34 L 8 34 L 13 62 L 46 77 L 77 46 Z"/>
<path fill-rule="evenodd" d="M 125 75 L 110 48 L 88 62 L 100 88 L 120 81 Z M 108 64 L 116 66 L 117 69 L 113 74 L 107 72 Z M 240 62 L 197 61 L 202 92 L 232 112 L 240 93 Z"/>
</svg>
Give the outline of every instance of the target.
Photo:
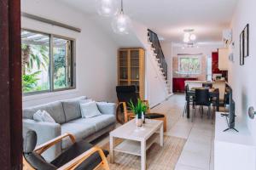
<svg viewBox="0 0 256 170">
<path fill-rule="evenodd" d="M 208 107 L 207 116 L 210 116 L 211 113 L 211 99 L 209 94 L 208 88 L 196 88 L 195 89 L 195 112 L 196 112 L 196 106 L 199 105 L 199 111 L 201 112 L 201 117 L 203 116 L 204 108 L 203 106 Z M 195 115 L 195 114 L 194 114 Z M 193 116 L 191 118 L 191 121 L 193 122 Z"/>
</svg>

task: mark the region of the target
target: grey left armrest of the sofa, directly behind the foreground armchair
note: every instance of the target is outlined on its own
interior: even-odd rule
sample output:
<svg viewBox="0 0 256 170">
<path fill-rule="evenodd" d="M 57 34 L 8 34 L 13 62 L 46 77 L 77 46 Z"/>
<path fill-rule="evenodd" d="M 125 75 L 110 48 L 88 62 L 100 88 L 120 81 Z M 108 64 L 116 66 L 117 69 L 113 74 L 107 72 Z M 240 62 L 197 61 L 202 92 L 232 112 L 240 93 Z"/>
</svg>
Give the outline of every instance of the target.
<svg viewBox="0 0 256 170">
<path fill-rule="evenodd" d="M 38 144 L 44 144 L 61 135 L 61 125 L 53 122 L 37 122 L 32 119 L 23 119 L 23 127 L 32 129 L 37 133 Z M 46 161 L 52 161 L 61 153 L 61 143 L 45 151 L 42 156 Z"/>
</svg>

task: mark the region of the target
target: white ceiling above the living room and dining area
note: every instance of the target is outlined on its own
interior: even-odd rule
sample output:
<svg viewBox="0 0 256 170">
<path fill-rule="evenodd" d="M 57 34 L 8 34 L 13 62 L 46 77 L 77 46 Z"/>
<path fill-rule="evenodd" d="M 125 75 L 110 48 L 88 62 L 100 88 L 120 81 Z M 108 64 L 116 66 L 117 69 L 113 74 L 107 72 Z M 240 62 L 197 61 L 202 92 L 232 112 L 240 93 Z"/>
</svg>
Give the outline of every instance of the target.
<svg viewBox="0 0 256 170">
<path fill-rule="evenodd" d="M 95 0 L 58 0 L 96 14 Z M 197 42 L 218 42 L 230 26 L 238 0 L 124 0 L 125 13 L 157 32 L 166 41 L 182 42 L 183 30 L 195 29 Z M 102 19 L 103 20 L 103 19 Z M 101 22 L 101 20 L 97 20 Z M 101 26 L 110 31 L 110 23 Z"/>
</svg>

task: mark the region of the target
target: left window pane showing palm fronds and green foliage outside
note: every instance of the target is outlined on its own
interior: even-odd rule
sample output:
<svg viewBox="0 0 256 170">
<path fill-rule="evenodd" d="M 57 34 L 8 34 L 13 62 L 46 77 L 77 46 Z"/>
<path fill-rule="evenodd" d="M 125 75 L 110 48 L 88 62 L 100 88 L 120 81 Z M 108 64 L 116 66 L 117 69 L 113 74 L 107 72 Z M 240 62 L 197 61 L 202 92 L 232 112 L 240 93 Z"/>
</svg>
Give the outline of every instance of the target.
<svg viewBox="0 0 256 170">
<path fill-rule="evenodd" d="M 23 93 L 49 90 L 49 35 L 21 31 Z"/>
</svg>

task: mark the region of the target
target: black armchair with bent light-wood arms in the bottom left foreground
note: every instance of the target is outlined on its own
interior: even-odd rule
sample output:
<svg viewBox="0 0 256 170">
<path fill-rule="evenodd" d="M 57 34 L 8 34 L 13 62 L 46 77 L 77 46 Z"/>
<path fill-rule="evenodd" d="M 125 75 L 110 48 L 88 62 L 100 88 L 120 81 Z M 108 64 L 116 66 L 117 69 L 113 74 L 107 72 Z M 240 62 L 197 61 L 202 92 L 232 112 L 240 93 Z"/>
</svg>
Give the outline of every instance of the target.
<svg viewBox="0 0 256 170">
<path fill-rule="evenodd" d="M 48 150 L 51 146 L 61 142 L 63 138 L 69 137 L 73 141 L 73 145 L 67 150 L 63 151 L 60 156 L 56 157 L 54 161 L 47 162 L 41 154 Z M 36 148 L 37 133 L 35 131 L 23 130 L 23 168 L 29 170 L 82 170 L 82 169 L 96 169 L 103 167 L 109 170 L 108 150 L 102 150 L 96 146 L 80 141 L 75 142 L 72 134 L 63 134 L 60 137 L 50 140 L 45 144 L 41 144 Z"/>
</svg>

